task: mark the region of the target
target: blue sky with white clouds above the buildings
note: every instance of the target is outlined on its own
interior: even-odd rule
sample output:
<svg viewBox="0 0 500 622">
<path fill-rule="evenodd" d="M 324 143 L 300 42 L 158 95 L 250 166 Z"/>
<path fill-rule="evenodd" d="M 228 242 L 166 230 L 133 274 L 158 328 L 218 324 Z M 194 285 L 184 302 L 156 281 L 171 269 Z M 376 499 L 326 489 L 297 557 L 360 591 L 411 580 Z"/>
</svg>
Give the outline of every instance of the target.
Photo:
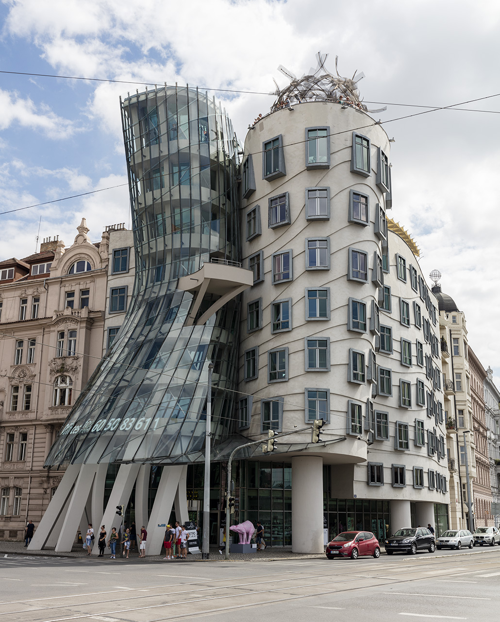
<svg viewBox="0 0 500 622">
<path fill-rule="evenodd" d="M 389 216 L 424 274 L 442 273 L 498 386 L 498 1 L 0 0 L 0 22 L 0 259 L 34 253 L 38 233 L 71 244 L 83 217 L 93 241 L 130 227 L 120 96 L 165 82 L 253 91 L 210 91 L 243 142 L 274 100 L 255 93 L 286 85 L 278 65 L 300 76 L 321 51 L 333 72 L 338 55 L 341 75 L 365 73 L 368 108 L 387 106 L 374 117 L 395 140 Z"/>
</svg>

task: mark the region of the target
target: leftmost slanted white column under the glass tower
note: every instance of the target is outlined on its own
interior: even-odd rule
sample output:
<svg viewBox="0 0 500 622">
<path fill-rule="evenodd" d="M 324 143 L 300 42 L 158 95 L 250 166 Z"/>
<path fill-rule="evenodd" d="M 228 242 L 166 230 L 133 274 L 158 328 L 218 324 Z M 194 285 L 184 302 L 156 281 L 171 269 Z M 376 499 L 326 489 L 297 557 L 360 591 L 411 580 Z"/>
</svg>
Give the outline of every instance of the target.
<svg viewBox="0 0 500 622">
<path fill-rule="evenodd" d="M 48 508 L 45 510 L 45 514 L 42 516 L 39 526 L 35 531 L 32 541 L 28 545 L 30 550 L 42 550 L 45 546 L 54 546 L 56 538 L 60 534 L 62 527 L 61 518 L 64 519 L 68 508 L 68 500 L 70 499 L 71 491 L 75 485 L 78 473 L 80 473 L 81 465 L 70 465 L 66 469 L 66 473 L 63 475 L 60 485 L 57 487 L 55 494 L 48 504 Z M 58 527 L 55 531 L 55 527 Z M 75 534 L 73 534 L 73 538 Z"/>
</svg>

